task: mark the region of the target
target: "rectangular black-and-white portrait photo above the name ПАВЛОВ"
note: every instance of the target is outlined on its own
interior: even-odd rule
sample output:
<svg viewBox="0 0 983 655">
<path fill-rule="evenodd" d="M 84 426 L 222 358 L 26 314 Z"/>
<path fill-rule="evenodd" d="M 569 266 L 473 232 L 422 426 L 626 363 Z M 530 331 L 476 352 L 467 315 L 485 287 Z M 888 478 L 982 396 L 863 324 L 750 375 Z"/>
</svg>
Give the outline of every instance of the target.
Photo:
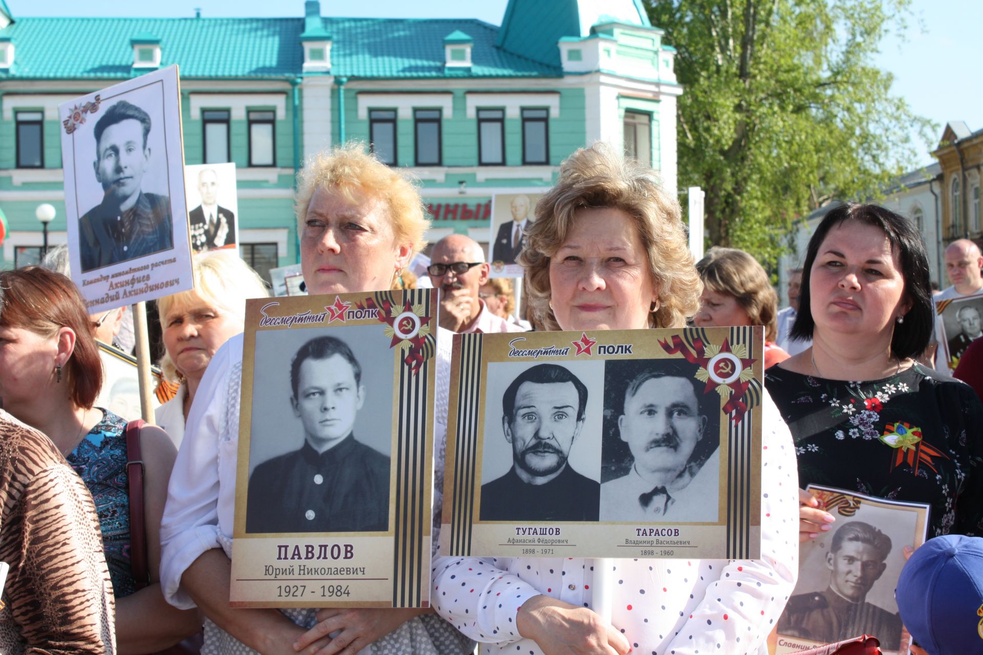
<svg viewBox="0 0 983 655">
<path fill-rule="evenodd" d="M 247 533 L 389 529 L 393 354 L 378 348 L 381 329 L 257 333 Z"/>
</svg>

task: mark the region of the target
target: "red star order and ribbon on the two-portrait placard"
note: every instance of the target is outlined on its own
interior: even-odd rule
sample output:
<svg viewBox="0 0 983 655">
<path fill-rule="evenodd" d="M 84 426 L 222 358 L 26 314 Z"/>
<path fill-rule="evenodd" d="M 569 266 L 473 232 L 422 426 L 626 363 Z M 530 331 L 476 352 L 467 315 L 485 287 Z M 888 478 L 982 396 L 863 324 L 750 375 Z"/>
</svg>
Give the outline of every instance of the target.
<svg viewBox="0 0 983 655">
<path fill-rule="evenodd" d="M 727 402 L 723 405 L 723 413 L 730 420 L 739 423 L 747 413 L 746 395 L 754 380 L 751 366 L 757 359 L 747 356 L 743 344 L 731 348 L 727 339 L 721 346 L 710 344 L 705 346 L 703 339 L 696 337 L 692 340 L 692 350 L 679 335 L 672 335 L 668 341 L 660 341 L 659 345 L 668 355 L 682 355 L 686 361 L 696 364 L 696 379 L 706 383 L 703 393 L 716 390 Z"/>
</svg>

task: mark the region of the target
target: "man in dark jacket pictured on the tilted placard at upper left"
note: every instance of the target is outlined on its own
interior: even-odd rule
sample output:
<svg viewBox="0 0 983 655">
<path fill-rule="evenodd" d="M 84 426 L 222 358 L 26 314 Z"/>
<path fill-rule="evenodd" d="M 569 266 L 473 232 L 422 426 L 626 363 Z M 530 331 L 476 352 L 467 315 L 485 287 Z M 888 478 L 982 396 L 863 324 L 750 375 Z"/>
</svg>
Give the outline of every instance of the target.
<svg viewBox="0 0 983 655">
<path fill-rule="evenodd" d="M 103 197 L 79 220 L 84 272 L 173 247 L 170 199 L 142 189 L 150 127 L 150 116 L 126 100 L 95 123 L 92 168 Z"/>
</svg>

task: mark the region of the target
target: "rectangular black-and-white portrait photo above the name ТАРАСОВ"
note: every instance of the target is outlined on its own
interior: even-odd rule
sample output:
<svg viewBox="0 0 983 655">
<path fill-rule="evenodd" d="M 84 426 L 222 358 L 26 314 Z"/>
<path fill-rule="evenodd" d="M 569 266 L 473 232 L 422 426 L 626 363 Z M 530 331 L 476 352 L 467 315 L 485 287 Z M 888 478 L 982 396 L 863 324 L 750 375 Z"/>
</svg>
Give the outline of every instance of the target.
<svg viewBox="0 0 983 655">
<path fill-rule="evenodd" d="M 716 522 L 720 396 L 695 364 L 608 360 L 601 520 Z"/>
</svg>

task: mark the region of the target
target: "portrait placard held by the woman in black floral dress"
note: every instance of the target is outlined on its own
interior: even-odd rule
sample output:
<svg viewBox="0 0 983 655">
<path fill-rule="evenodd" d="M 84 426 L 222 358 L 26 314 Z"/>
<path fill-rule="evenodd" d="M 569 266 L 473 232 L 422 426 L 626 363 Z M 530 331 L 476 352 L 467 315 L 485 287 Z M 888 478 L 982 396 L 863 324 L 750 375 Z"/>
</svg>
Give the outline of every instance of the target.
<svg viewBox="0 0 983 655">
<path fill-rule="evenodd" d="M 776 653 L 873 634 L 885 653 L 907 652 L 895 587 L 904 546 L 925 542 L 929 506 L 835 487 L 806 487 L 836 521 L 799 546 L 799 578 L 778 624 Z"/>
</svg>

